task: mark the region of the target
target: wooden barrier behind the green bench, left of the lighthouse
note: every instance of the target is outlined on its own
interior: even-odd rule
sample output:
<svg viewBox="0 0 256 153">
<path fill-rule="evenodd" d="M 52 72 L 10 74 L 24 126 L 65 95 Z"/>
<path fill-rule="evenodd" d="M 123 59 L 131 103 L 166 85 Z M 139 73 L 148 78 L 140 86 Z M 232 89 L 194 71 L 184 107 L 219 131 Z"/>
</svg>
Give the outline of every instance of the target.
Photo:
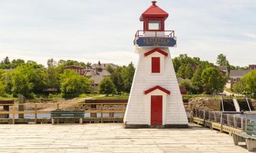
<svg viewBox="0 0 256 153">
<path fill-rule="evenodd" d="M 5 104 L 5 105 L 9 105 L 9 104 Z M 23 105 L 23 107 L 25 108 L 24 111 L 18 111 L 16 110 L 18 107 L 20 107 L 20 105 Z M 26 106 L 29 105 L 29 110 L 26 109 Z M 53 105 L 51 108 L 51 110 L 44 110 L 44 109 L 40 109 L 40 106 L 44 106 L 44 105 Z M 85 117 L 83 118 L 83 122 L 122 122 L 124 114 L 126 112 L 126 103 L 79 103 L 79 104 L 75 104 L 76 106 L 80 106 L 80 107 L 85 107 L 87 106 L 91 106 L 91 105 L 99 105 L 100 109 L 83 109 L 83 111 L 85 112 L 85 114 L 100 114 L 100 118 L 98 118 L 97 116 L 95 116 L 94 118 L 90 117 Z M 104 109 L 105 105 L 119 105 L 120 109 Z M 74 104 L 68 104 L 68 103 L 27 103 L 27 104 L 13 104 L 12 105 L 12 110 L 8 110 L 8 111 L 2 111 L 0 112 L 0 114 L 12 114 L 12 118 L 0 118 L 0 123 L 10 123 L 10 120 L 12 120 L 12 124 L 15 124 L 16 122 L 18 123 L 28 123 L 28 122 L 41 122 L 41 123 L 48 123 L 49 121 L 51 122 L 51 120 L 49 120 L 50 118 L 40 118 L 40 114 L 51 114 L 51 111 L 55 110 L 55 109 L 61 109 L 63 107 L 66 106 L 71 106 L 73 107 Z M 114 117 L 114 114 L 121 114 L 120 117 Z M 23 116 L 25 116 L 25 114 L 34 114 L 33 118 L 16 118 L 18 114 L 23 114 Z M 108 117 L 104 117 L 103 114 L 109 114 Z"/>
</svg>

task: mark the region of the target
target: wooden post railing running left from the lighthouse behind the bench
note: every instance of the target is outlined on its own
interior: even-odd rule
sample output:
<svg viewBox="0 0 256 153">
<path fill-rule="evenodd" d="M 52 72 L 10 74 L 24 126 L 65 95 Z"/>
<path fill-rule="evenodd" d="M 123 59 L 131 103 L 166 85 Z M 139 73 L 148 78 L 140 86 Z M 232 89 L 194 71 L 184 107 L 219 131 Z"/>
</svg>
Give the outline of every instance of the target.
<svg viewBox="0 0 256 153">
<path fill-rule="evenodd" d="M 72 103 L 25 103 L 25 104 L 20 104 L 20 105 L 24 105 L 25 110 L 18 110 L 18 104 L 14 104 L 14 105 L 10 105 L 10 110 L 9 111 L 0 111 L 0 115 L 1 114 L 12 114 L 12 118 L 1 118 L 0 116 L 0 120 L 12 120 L 12 123 L 15 123 L 15 120 L 18 119 L 16 118 L 17 114 L 34 114 L 34 118 L 30 118 L 35 120 L 35 123 L 37 122 L 38 119 L 38 115 L 39 114 L 51 114 L 51 111 L 56 110 L 56 109 L 65 109 L 65 110 L 69 110 L 70 107 L 80 107 L 82 109 L 78 109 L 78 110 L 84 110 L 85 114 L 100 114 L 100 118 L 101 121 L 103 120 L 103 118 L 106 118 L 103 116 L 104 113 L 106 114 L 115 114 L 115 113 L 121 113 L 122 117 L 120 118 L 124 118 L 124 114 L 126 112 L 126 103 L 78 103 L 78 104 L 72 104 Z M 49 107 L 49 106 L 53 106 L 53 107 Z M 96 105 L 96 109 L 91 109 L 91 105 Z M 109 109 L 106 108 L 104 109 L 104 106 L 106 105 L 115 105 L 116 107 L 119 106 L 119 109 Z M 28 106 L 29 106 L 29 110 L 28 110 Z M 40 107 L 41 106 L 41 107 Z M 42 107 L 42 106 L 47 106 L 47 107 Z M 87 106 L 87 108 L 85 108 L 85 106 Z M 98 109 L 97 109 L 97 106 Z M 27 109 L 26 109 L 27 108 Z M 121 109 L 120 109 L 121 108 Z M 31 110 L 30 110 L 31 109 Z M 46 110 L 44 110 L 46 109 Z M 85 117 L 87 118 L 87 117 Z M 91 116 L 89 117 L 91 118 Z M 95 117 L 98 118 L 98 117 Z M 109 116 L 108 118 L 114 118 Z"/>
</svg>

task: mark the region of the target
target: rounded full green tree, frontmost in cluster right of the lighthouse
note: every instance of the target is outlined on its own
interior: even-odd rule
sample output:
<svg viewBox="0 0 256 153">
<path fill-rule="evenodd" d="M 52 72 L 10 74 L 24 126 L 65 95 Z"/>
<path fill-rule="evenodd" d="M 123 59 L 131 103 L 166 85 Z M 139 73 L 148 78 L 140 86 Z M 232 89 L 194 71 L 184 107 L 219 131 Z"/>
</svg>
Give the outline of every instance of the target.
<svg viewBox="0 0 256 153">
<path fill-rule="evenodd" d="M 221 75 L 218 69 L 209 67 L 203 70 L 201 76 L 203 90 L 206 94 L 222 92 L 226 79 Z"/>
</svg>

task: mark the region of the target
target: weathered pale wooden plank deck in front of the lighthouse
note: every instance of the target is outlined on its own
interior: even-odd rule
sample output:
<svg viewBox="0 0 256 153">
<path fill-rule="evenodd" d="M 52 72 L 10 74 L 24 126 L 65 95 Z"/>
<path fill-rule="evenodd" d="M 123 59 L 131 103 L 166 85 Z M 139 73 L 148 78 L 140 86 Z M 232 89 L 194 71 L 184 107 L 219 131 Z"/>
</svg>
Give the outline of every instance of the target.
<svg viewBox="0 0 256 153">
<path fill-rule="evenodd" d="M 244 146 L 245 147 L 245 146 Z M 247 152 L 202 128 L 124 129 L 122 124 L 0 124 L 0 152 Z"/>
</svg>

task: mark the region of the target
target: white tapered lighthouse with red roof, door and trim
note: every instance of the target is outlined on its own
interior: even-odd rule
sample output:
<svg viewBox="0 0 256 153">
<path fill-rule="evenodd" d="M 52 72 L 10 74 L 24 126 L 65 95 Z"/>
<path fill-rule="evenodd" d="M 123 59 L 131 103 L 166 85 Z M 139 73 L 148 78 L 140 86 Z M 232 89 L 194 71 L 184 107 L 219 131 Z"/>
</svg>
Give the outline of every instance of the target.
<svg viewBox="0 0 256 153">
<path fill-rule="evenodd" d="M 124 126 L 126 128 L 184 128 L 188 119 L 169 48 L 174 31 L 165 30 L 169 14 L 156 1 L 141 14 L 143 30 L 134 38 L 139 62 L 134 73 Z"/>
</svg>

